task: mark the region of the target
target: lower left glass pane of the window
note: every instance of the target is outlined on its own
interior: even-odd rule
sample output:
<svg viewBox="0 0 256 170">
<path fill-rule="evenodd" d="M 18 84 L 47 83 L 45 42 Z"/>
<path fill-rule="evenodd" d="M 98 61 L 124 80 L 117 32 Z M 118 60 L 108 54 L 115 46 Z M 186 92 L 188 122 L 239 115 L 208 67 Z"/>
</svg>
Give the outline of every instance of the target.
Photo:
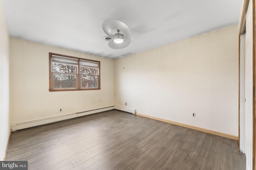
<svg viewBox="0 0 256 170">
<path fill-rule="evenodd" d="M 76 88 L 76 76 L 54 74 L 53 88 Z"/>
</svg>

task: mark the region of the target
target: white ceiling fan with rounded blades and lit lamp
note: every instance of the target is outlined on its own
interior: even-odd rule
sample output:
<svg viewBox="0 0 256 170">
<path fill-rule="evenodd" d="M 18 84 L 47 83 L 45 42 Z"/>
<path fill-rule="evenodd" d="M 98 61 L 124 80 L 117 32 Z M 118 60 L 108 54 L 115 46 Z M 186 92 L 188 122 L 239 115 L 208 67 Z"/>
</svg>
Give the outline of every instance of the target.
<svg viewBox="0 0 256 170">
<path fill-rule="evenodd" d="M 103 31 L 108 35 L 104 39 L 112 49 L 123 49 L 131 43 L 131 30 L 120 20 L 108 19 L 102 23 Z"/>
</svg>

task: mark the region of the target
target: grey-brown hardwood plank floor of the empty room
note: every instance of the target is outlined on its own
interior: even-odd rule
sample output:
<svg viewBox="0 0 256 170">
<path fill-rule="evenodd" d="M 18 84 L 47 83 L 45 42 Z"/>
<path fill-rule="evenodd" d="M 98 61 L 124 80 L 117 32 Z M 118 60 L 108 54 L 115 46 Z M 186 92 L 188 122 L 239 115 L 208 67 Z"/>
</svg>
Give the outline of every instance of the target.
<svg viewBox="0 0 256 170">
<path fill-rule="evenodd" d="M 232 139 L 111 110 L 11 134 L 29 170 L 245 170 Z"/>
</svg>

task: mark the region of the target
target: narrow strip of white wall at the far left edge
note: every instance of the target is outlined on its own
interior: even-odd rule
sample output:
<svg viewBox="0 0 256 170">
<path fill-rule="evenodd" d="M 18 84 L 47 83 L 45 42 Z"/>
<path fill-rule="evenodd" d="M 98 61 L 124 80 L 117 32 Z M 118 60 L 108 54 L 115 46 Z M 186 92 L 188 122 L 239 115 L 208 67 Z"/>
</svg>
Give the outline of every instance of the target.
<svg viewBox="0 0 256 170">
<path fill-rule="evenodd" d="M 0 0 L 0 160 L 10 134 L 9 117 L 9 33 Z"/>
</svg>

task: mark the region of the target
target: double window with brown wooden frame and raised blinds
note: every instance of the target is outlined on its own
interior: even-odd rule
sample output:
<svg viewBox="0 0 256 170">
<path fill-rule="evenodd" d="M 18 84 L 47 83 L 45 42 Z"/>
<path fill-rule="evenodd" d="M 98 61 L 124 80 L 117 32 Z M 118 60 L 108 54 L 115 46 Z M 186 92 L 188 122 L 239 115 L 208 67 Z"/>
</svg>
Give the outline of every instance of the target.
<svg viewBox="0 0 256 170">
<path fill-rule="evenodd" d="M 50 92 L 100 90 L 100 61 L 49 53 Z"/>
</svg>

